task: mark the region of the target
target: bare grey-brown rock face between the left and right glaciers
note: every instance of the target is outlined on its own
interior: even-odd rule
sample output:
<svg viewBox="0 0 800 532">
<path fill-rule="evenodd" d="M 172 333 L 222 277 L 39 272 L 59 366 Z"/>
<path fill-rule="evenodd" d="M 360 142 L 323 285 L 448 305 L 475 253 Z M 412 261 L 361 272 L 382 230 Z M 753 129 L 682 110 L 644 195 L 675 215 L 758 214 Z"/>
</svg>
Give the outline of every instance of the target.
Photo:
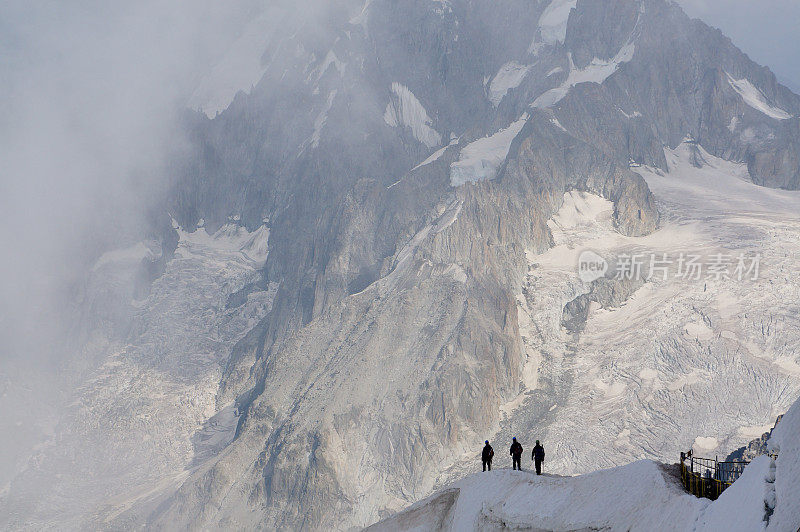
<svg viewBox="0 0 800 532">
<path fill-rule="evenodd" d="M 270 31 L 260 81 L 213 119 L 187 112 L 192 153 L 164 205 L 186 231 L 269 227 L 261 278 L 225 285 L 234 309 L 269 292 L 214 382 L 235 438 L 117 523 L 372 523 L 431 493 L 523 392 L 568 393 L 537 385 L 519 298 L 565 193 L 647 235 L 663 220 L 633 170 L 667 172 L 687 138 L 800 188 L 800 98 L 672 3 L 274 4 L 250 32 Z M 570 285 L 555 327 L 580 332 L 590 302 L 639 286 L 604 282 Z"/>
</svg>

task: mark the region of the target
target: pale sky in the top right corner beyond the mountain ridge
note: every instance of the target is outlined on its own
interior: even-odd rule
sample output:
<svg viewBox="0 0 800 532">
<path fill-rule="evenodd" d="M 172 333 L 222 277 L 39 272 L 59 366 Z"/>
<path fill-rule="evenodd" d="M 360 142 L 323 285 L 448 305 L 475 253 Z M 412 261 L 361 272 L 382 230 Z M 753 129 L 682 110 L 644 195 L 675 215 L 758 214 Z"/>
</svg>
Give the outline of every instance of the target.
<svg viewBox="0 0 800 532">
<path fill-rule="evenodd" d="M 677 0 L 800 93 L 800 0 Z"/>
</svg>

